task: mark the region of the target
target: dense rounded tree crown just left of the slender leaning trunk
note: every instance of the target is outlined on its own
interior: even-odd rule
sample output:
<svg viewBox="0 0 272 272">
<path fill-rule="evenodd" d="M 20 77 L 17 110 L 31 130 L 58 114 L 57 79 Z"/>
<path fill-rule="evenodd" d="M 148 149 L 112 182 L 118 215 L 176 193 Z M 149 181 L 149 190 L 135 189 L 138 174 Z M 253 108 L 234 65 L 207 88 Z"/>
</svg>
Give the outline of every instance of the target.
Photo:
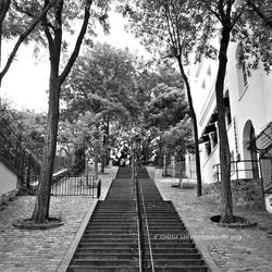
<svg viewBox="0 0 272 272">
<path fill-rule="evenodd" d="M 162 145 L 164 152 L 178 152 L 182 157 L 188 144 L 184 140 L 185 134 L 190 128 L 188 104 L 184 92 L 176 87 L 158 84 L 151 90 L 152 98 L 146 103 L 145 126 L 149 129 L 149 143 L 153 145 L 154 161 L 161 163 Z"/>
</svg>

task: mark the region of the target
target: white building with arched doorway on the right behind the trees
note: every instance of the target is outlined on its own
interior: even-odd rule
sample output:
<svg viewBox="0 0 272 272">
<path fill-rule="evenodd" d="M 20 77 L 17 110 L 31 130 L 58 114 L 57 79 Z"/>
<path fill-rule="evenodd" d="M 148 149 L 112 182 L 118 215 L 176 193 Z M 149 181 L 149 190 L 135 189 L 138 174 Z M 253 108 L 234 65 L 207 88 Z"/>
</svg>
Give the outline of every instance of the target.
<svg viewBox="0 0 272 272">
<path fill-rule="evenodd" d="M 251 184 L 254 181 L 259 184 L 263 182 L 264 193 L 272 194 L 272 74 L 267 75 L 260 67 L 248 77 L 239 61 L 243 58 L 240 44 L 231 44 L 227 57 L 224 97 L 233 161 L 231 178 L 251 181 Z M 190 73 L 194 76 L 191 91 L 201 143 L 199 147 L 203 183 L 214 183 L 218 180 L 214 168 L 219 163 L 214 94 L 217 72 L 218 61 L 205 59 L 198 63 L 194 75 Z"/>
</svg>

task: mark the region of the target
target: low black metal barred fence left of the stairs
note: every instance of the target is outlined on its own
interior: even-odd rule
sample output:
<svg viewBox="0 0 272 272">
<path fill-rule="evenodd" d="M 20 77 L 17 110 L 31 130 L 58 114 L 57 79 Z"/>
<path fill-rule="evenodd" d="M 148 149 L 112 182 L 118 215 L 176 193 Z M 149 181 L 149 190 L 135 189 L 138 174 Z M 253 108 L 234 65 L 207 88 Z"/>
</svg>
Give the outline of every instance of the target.
<svg viewBox="0 0 272 272">
<path fill-rule="evenodd" d="M 88 176 L 58 176 L 51 186 L 52 196 L 91 196 L 99 198 L 101 180 L 95 175 Z"/>
</svg>

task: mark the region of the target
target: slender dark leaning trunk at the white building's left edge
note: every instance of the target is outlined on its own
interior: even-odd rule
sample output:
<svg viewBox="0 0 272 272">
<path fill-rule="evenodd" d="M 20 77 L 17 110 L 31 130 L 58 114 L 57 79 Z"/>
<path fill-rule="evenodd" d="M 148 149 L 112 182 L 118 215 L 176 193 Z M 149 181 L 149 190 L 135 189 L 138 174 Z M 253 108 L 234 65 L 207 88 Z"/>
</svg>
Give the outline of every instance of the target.
<svg viewBox="0 0 272 272">
<path fill-rule="evenodd" d="M 201 166 L 200 166 L 200 154 L 199 154 L 199 144 L 198 144 L 198 127 L 197 127 L 197 116 L 193 104 L 191 94 L 190 94 L 190 85 L 187 75 L 185 74 L 183 63 L 181 58 L 177 59 L 178 67 L 183 77 L 183 81 L 186 86 L 186 94 L 189 103 L 190 118 L 193 121 L 193 129 L 194 129 L 194 139 L 195 139 L 195 156 L 196 156 L 196 172 L 197 172 L 197 196 L 200 197 L 202 195 L 202 181 L 201 181 Z"/>
</svg>

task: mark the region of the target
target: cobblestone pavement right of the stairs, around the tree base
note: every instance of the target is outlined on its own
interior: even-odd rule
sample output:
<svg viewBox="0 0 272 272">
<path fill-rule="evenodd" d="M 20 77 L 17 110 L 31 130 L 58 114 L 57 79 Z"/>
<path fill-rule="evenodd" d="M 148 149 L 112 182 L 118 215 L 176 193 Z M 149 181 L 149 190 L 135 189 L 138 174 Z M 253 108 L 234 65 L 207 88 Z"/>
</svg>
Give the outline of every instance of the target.
<svg viewBox="0 0 272 272">
<path fill-rule="evenodd" d="M 219 214 L 219 207 L 207 198 L 196 198 L 196 189 L 172 187 L 177 180 L 156 181 L 164 200 L 172 200 L 190 235 L 215 262 L 214 271 L 272 271 L 272 214 L 265 211 L 236 210 L 235 215 L 257 221 L 251 228 L 225 228 L 210 222 Z"/>
</svg>

